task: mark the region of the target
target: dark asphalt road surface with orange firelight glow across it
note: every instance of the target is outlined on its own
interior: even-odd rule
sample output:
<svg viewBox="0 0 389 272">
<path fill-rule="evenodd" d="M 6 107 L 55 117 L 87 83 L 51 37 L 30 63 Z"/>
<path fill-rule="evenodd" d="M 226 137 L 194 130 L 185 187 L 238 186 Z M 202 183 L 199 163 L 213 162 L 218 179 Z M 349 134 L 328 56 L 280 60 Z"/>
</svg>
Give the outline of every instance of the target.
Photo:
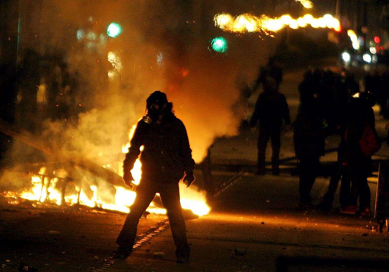
<svg viewBox="0 0 389 272">
<path fill-rule="evenodd" d="M 231 172 L 215 172 L 223 181 Z M 201 175 L 198 175 L 199 179 Z M 318 179 L 315 200 L 327 179 Z M 374 198 L 374 183 L 370 183 Z M 125 215 L 1 197 L 1 271 L 387 271 L 389 234 L 373 218 L 299 211 L 297 177 L 243 174 L 210 200 L 209 215 L 187 220 L 192 255 L 175 263 L 164 216 L 142 218 L 139 235 L 161 226 L 126 260 L 112 251 Z M 159 225 L 157 225 L 159 223 Z M 152 229 L 155 230 L 155 229 Z M 374 269 L 374 270 L 373 270 Z M 26 271 L 26 270 L 24 270 Z"/>
</svg>

